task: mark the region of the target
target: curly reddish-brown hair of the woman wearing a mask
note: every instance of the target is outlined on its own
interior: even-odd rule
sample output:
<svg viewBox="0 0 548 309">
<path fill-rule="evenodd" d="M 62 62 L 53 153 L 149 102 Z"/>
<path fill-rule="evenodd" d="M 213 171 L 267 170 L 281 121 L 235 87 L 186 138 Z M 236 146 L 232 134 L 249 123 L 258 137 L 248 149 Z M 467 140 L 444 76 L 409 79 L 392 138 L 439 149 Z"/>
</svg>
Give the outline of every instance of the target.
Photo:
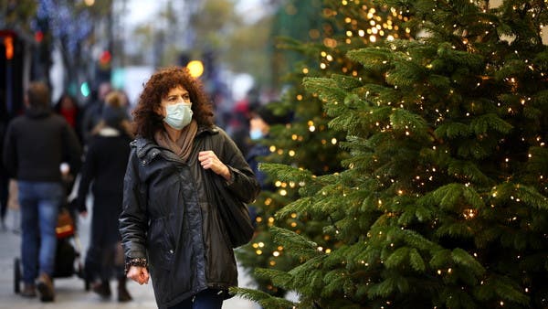
<svg viewBox="0 0 548 309">
<path fill-rule="evenodd" d="M 137 107 L 133 110 L 135 134 L 153 139 L 154 133 L 163 130 L 163 116 L 158 114 L 162 98 L 177 86 L 183 87 L 192 101 L 193 119 L 198 125 L 213 125 L 213 105 L 207 99 L 200 80 L 193 78 L 188 69 L 169 67 L 159 69 L 144 84 Z"/>
</svg>

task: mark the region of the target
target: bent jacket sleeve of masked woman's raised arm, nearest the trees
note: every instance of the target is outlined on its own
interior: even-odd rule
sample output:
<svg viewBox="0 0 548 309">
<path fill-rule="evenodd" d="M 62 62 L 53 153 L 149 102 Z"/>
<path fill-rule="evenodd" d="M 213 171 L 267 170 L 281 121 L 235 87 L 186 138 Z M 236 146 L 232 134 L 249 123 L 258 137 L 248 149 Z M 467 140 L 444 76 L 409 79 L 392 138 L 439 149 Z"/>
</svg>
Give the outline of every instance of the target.
<svg viewBox="0 0 548 309">
<path fill-rule="evenodd" d="M 236 143 L 227 133 L 222 131 L 220 134 L 223 137 L 222 161 L 228 166 L 231 174 L 227 187 L 242 202 L 252 203 L 260 192 L 257 177 Z"/>
</svg>

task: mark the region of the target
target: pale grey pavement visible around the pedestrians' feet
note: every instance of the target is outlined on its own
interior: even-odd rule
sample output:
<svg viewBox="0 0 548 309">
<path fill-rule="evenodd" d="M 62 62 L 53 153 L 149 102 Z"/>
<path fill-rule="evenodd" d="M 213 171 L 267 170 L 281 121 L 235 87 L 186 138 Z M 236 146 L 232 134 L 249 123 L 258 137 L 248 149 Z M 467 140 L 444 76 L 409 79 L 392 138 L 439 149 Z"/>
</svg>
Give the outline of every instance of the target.
<svg viewBox="0 0 548 309">
<path fill-rule="evenodd" d="M 132 294 L 133 301 L 129 303 L 118 303 L 116 293 L 110 301 L 103 301 L 98 295 L 87 292 L 85 284 L 76 274 L 69 278 L 58 278 L 55 280 L 56 299 L 54 303 L 41 303 L 39 298 L 26 299 L 14 292 L 14 261 L 20 258 L 20 235 L 13 229 L 17 229 L 14 222 L 18 213 L 8 209 L 6 215 L 6 231 L 0 231 L 0 308 L 58 308 L 58 309 L 90 309 L 90 308 L 156 308 L 154 301 L 152 283 L 139 285 L 136 282 L 129 282 L 128 289 Z M 82 245 L 81 253 L 87 249 L 90 230 L 90 216 L 79 218 L 79 240 Z M 82 261 L 83 263 L 83 261 Z M 240 286 L 252 284 L 243 270 L 239 271 L 238 282 Z M 111 282 L 111 287 L 116 287 L 116 282 Z M 233 297 L 223 304 L 223 309 L 258 309 L 258 304 L 247 300 Z"/>
</svg>

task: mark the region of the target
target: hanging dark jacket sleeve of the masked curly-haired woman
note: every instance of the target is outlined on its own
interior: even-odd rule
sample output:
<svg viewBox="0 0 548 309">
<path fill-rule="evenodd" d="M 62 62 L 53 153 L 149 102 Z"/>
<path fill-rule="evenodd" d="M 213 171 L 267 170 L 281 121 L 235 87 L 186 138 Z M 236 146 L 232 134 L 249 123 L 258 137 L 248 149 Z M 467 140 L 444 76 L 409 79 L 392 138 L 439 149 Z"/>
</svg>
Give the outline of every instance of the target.
<svg viewBox="0 0 548 309">
<path fill-rule="evenodd" d="M 146 187 L 139 177 L 139 159 L 132 148 L 123 180 L 123 202 L 119 218 L 121 245 L 126 264 L 132 261 L 146 261 Z"/>
</svg>

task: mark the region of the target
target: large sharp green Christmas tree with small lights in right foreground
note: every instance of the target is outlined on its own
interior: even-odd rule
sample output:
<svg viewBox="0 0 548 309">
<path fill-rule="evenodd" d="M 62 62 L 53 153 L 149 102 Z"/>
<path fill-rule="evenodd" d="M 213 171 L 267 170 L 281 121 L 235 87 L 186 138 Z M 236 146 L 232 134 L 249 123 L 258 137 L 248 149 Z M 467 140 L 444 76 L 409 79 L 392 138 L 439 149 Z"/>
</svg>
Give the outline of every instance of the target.
<svg viewBox="0 0 548 309">
<path fill-rule="evenodd" d="M 237 293 L 267 308 L 548 307 L 545 1 L 374 3 L 414 39 L 348 51 L 355 75 L 303 80 L 346 136 L 342 170 L 263 165 L 299 184 L 277 222 L 329 222 L 334 245 L 272 227 L 300 264 L 256 272 L 299 303 Z"/>
</svg>

